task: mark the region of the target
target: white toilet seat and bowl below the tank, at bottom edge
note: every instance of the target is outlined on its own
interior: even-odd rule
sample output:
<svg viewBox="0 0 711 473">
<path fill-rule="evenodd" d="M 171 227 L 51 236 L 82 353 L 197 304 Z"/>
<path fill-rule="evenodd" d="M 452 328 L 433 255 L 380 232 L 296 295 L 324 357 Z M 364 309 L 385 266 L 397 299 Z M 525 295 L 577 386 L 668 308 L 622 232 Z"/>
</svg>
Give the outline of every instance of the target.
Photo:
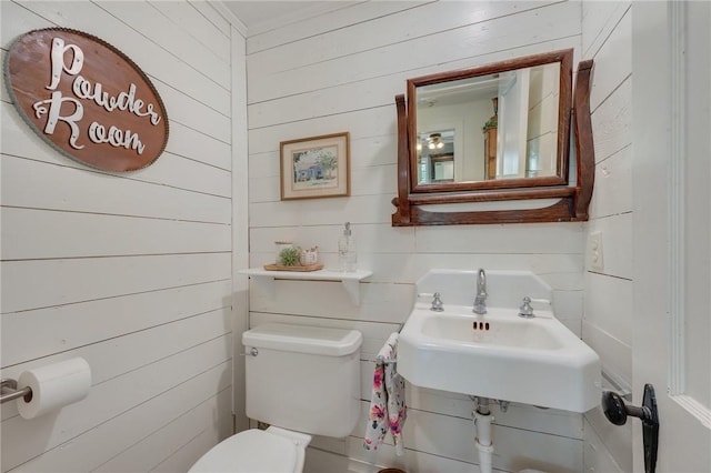
<svg viewBox="0 0 711 473">
<path fill-rule="evenodd" d="M 303 467 L 303 451 L 304 445 L 293 439 L 251 429 L 212 447 L 190 473 L 298 473 Z"/>
</svg>

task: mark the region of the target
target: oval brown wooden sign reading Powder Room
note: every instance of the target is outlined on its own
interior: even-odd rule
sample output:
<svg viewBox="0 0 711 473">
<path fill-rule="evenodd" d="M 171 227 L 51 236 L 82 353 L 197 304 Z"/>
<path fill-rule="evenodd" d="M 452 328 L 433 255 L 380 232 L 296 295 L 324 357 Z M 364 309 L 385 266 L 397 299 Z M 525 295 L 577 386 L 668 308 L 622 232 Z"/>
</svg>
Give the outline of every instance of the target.
<svg viewBox="0 0 711 473">
<path fill-rule="evenodd" d="M 166 149 L 168 115 L 158 91 L 99 38 L 63 28 L 30 31 L 11 44 L 4 73 L 22 118 L 72 159 L 133 171 Z"/>
</svg>

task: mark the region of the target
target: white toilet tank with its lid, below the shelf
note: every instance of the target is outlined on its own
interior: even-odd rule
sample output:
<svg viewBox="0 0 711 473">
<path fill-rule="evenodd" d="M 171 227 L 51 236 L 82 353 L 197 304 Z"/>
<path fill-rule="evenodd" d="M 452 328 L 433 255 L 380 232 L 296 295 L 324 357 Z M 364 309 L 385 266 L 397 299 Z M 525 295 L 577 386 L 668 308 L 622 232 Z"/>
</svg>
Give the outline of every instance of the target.
<svg viewBox="0 0 711 473">
<path fill-rule="evenodd" d="M 244 332 L 247 415 L 309 434 L 349 435 L 360 415 L 362 340 L 357 330 L 281 323 Z"/>
</svg>

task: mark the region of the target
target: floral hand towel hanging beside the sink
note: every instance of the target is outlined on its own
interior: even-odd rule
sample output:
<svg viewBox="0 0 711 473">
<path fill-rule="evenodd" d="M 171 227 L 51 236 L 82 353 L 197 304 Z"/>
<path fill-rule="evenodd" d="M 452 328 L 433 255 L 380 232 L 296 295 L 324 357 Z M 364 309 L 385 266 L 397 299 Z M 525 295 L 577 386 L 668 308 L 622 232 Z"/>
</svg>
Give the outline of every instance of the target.
<svg viewBox="0 0 711 473">
<path fill-rule="evenodd" d="M 363 447 L 378 450 L 388 431 L 392 434 L 395 454 L 402 455 L 402 425 L 407 417 L 404 404 L 404 380 L 395 370 L 398 355 L 398 333 L 388 338 L 380 349 L 373 373 L 373 390 L 370 400 L 370 414 L 365 429 Z"/>
</svg>

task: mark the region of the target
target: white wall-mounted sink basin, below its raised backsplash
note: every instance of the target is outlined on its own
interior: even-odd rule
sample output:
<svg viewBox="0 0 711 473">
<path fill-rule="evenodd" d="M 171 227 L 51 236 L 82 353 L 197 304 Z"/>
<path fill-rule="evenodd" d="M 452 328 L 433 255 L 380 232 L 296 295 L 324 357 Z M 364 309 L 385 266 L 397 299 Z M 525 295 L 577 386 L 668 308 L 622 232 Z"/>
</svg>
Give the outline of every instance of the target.
<svg viewBox="0 0 711 473">
<path fill-rule="evenodd" d="M 549 306 L 550 308 L 550 306 Z M 574 412 L 600 403 L 600 358 L 552 311 L 418 302 L 398 342 L 398 371 L 442 391 Z"/>
</svg>

